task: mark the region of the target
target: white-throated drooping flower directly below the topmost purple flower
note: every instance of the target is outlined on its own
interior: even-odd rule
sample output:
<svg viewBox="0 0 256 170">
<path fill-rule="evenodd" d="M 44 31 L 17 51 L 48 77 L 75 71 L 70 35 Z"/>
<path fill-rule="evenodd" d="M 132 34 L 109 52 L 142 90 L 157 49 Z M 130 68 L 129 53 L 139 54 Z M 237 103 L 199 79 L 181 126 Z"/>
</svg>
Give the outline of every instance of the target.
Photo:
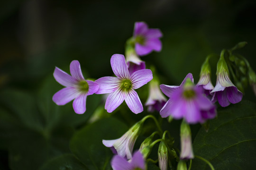
<svg viewBox="0 0 256 170">
<path fill-rule="evenodd" d="M 127 67 L 130 75 L 135 71 L 146 68 L 145 61 L 142 61 L 139 58 L 139 56 L 136 54 L 136 51 L 130 45 L 130 43 L 127 43 L 125 56 L 126 56 L 126 63 L 127 63 Z"/>
</svg>

